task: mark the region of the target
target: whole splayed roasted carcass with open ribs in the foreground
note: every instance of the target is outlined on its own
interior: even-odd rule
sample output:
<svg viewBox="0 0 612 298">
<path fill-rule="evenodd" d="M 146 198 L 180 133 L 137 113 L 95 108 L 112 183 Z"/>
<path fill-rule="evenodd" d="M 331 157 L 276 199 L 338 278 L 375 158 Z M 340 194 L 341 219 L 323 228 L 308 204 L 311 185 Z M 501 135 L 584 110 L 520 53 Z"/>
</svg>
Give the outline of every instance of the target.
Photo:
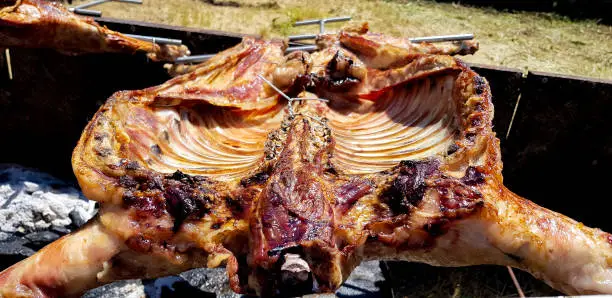
<svg viewBox="0 0 612 298">
<path fill-rule="evenodd" d="M 487 81 L 446 55 L 372 65 L 360 57 L 385 39 L 356 34 L 288 56 L 245 39 L 114 94 L 73 153 L 98 216 L 0 273 L 0 296 L 223 264 L 237 292 L 329 292 L 365 259 L 508 265 L 612 293 L 610 234 L 503 186 Z"/>
</svg>

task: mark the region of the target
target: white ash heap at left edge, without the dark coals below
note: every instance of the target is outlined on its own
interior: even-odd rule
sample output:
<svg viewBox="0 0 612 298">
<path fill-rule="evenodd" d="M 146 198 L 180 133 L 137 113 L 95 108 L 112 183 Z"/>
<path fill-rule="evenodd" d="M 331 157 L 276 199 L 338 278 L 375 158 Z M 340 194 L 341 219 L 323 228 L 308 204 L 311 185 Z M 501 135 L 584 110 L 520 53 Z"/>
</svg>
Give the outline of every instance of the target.
<svg viewBox="0 0 612 298">
<path fill-rule="evenodd" d="M 78 226 L 95 204 L 76 188 L 45 173 L 0 165 L 0 241 L 11 234 Z"/>
</svg>

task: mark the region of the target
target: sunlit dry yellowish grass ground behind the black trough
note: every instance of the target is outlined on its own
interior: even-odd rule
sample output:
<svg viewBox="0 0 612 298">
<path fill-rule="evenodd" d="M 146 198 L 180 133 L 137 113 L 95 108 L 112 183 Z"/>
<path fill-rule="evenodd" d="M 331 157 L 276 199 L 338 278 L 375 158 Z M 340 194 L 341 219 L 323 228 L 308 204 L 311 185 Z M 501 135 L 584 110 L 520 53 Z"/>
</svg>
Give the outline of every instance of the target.
<svg viewBox="0 0 612 298">
<path fill-rule="evenodd" d="M 474 33 L 481 50 L 466 57 L 471 62 L 612 79 L 612 27 L 554 14 L 400 0 L 144 0 L 143 5 L 107 3 L 96 9 L 113 18 L 264 36 L 315 33 L 317 26 L 291 24 L 350 15 L 356 22 L 368 21 L 373 31 L 406 37 Z"/>
</svg>

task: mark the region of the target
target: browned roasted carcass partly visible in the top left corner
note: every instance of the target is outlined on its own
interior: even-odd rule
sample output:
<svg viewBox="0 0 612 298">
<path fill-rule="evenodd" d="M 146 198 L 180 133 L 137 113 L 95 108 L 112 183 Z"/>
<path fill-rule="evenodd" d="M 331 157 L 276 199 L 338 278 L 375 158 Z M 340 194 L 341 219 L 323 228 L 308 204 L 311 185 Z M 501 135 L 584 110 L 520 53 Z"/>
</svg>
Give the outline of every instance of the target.
<svg viewBox="0 0 612 298">
<path fill-rule="evenodd" d="M 0 0 L 0 47 L 50 48 L 65 54 L 146 52 L 161 61 L 189 55 L 185 46 L 134 39 L 45 0 Z"/>
</svg>

